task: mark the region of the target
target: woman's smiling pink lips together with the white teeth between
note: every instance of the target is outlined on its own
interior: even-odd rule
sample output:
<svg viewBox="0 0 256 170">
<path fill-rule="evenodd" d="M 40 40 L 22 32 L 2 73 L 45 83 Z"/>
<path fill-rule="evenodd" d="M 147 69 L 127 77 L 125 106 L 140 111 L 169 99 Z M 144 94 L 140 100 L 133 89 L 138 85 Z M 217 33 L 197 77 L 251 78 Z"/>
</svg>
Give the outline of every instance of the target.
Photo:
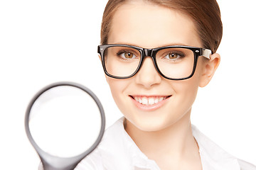
<svg viewBox="0 0 256 170">
<path fill-rule="evenodd" d="M 131 96 L 135 105 L 146 111 L 160 108 L 171 96 Z"/>
</svg>

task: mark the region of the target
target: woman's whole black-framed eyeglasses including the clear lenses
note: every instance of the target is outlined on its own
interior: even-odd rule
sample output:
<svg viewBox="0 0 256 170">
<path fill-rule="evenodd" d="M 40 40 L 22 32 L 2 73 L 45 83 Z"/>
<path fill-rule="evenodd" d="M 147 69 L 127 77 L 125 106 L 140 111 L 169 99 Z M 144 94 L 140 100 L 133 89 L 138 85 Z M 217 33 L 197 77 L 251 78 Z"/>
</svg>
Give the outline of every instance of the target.
<svg viewBox="0 0 256 170">
<path fill-rule="evenodd" d="M 201 47 L 171 45 L 146 49 L 132 45 L 99 45 L 105 74 L 116 79 L 133 77 L 142 67 L 143 60 L 151 57 L 156 71 L 171 80 L 189 79 L 196 70 L 198 57 L 210 59 L 211 50 Z"/>
</svg>

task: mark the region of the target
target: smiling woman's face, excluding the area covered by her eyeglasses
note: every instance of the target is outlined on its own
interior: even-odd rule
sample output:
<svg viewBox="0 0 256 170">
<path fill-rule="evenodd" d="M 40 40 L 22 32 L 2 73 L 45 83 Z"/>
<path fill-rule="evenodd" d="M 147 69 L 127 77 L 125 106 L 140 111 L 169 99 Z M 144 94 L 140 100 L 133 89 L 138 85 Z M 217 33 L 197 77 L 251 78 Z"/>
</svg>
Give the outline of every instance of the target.
<svg viewBox="0 0 256 170">
<path fill-rule="evenodd" d="M 117 9 L 112 18 L 108 44 L 144 48 L 202 46 L 191 18 L 170 8 L 143 1 L 130 1 Z M 202 81 L 203 64 L 203 57 L 199 57 L 193 77 L 173 81 L 161 77 L 151 57 L 146 57 L 134 77 L 106 78 L 114 101 L 125 118 L 140 130 L 156 131 L 183 120 L 189 121 L 191 106 Z M 143 104 L 148 102 L 154 104 Z"/>
</svg>

